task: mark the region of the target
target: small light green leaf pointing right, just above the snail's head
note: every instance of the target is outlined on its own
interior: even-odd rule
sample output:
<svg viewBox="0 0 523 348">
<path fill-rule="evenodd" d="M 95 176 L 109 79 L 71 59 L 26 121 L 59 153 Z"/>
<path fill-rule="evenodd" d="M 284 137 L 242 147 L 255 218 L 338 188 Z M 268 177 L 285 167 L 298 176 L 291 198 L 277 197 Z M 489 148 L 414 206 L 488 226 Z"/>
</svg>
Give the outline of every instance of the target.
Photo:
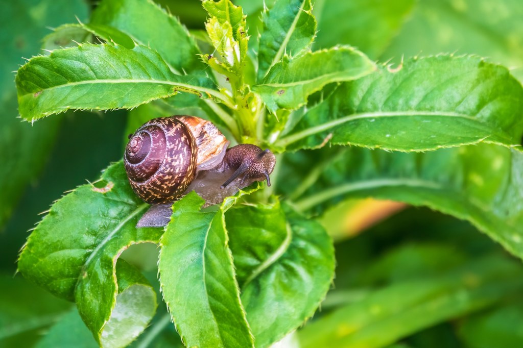
<svg viewBox="0 0 523 348">
<path fill-rule="evenodd" d="M 326 84 L 357 79 L 374 70 L 376 66 L 361 52 L 336 47 L 294 59 L 283 57 L 253 90 L 271 112 L 279 108 L 293 110 L 305 105 L 308 96 Z"/>
</svg>

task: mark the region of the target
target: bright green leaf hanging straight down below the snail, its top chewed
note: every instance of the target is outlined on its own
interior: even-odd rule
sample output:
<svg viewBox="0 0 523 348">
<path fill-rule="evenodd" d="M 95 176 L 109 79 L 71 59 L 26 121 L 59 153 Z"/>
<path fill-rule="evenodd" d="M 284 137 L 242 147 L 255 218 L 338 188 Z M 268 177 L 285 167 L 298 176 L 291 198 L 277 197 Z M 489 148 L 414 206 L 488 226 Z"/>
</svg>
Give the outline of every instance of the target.
<svg viewBox="0 0 523 348">
<path fill-rule="evenodd" d="M 204 200 L 194 192 L 173 205 L 160 241 L 158 272 L 164 301 L 187 346 L 254 345 L 223 217 L 243 194 L 226 199 L 218 212 L 200 211 Z"/>
</svg>

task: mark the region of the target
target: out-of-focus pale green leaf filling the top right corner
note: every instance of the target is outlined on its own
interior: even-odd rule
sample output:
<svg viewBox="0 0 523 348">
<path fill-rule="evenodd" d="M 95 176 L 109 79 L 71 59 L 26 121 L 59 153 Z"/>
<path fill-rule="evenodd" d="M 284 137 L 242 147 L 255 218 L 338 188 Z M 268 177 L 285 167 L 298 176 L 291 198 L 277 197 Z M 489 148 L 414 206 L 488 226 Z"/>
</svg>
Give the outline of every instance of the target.
<svg viewBox="0 0 523 348">
<path fill-rule="evenodd" d="M 383 61 L 403 55 L 457 52 L 489 57 L 513 68 L 523 80 L 523 6 L 519 0 L 422 0 L 399 35 L 381 54 Z M 370 31 L 374 23 L 368 26 Z M 349 36 L 353 35 L 348 33 Z"/>
</svg>

